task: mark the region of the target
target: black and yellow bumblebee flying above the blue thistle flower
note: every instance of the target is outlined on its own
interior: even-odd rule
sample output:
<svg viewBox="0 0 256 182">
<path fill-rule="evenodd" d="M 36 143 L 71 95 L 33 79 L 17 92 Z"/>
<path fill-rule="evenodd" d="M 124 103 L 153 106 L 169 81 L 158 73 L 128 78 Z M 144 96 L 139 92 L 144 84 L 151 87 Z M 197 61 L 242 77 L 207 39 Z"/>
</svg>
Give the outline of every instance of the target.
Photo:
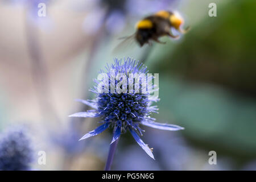
<svg viewBox="0 0 256 182">
<path fill-rule="evenodd" d="M 137 31 L 135 34 L 128 36 L 125 39 L 135 38 L 141 47 L 144 44 L 151 45 L 151 40 L 164 44 L 166 42 L 160 42 L 158 40 L 161 36 L 170 36 L 171 38 L 179 37 L 179 35 L 175 36 L 172 34 L 172 27 L 183 34 L 188 31 L 189 27 L 185 30 L 180 28 L 183 22 L 183 18 L 176 13 L 164 10 L 158 11 L 157 13 L 140 20 L 136 24 L 135 28 Z"/>
</svg>

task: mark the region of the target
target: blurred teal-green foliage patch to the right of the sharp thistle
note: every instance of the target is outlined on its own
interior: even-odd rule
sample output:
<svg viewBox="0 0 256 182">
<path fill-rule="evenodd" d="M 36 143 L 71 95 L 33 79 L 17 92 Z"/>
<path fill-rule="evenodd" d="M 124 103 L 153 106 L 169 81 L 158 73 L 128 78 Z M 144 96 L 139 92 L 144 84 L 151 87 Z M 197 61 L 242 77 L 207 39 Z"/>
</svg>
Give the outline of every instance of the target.
<svg viewBox="0 0 256 182">
<path fill-rule="evenodd" d="M 256 100 L 210 84 L 160 79 L 159 115 L 199 147 L 242 160 L 256 156 Z M 171 120 L 171 121 L 170 121 Z"/>
</svg>

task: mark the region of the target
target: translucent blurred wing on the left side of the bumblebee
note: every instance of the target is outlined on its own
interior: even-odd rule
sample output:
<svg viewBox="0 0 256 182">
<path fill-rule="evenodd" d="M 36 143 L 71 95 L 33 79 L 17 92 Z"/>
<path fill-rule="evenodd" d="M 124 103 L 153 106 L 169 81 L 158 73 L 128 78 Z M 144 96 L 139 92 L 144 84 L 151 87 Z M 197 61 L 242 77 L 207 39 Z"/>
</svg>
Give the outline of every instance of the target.
<svg viewBox="0 0 256 182">
<path fill-rule="evenodd" d="M 135 34 L 118 38 L 118 39 L 119 40 L 123 39 L 123 40 L 113 49 L 112 53 L 114 54 L 118 53 L 119 51 L 135 47 L 135 44 L 136 44 Z"/>
</svg>

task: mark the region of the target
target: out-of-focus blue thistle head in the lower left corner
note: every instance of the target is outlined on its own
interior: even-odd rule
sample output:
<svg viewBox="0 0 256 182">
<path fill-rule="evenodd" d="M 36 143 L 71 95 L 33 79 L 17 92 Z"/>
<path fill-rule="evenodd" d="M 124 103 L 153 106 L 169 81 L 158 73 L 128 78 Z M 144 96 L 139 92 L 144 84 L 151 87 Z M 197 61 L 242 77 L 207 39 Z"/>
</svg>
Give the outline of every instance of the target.
<svg viewBox="0 0 256 182">
<path fill-rule="evenodd" d="M 1 135 L 0 138 L 0 170 L 29 170 L 32 162 L 32 148 L 26 130 L 15 128 Z"/>
</svg>

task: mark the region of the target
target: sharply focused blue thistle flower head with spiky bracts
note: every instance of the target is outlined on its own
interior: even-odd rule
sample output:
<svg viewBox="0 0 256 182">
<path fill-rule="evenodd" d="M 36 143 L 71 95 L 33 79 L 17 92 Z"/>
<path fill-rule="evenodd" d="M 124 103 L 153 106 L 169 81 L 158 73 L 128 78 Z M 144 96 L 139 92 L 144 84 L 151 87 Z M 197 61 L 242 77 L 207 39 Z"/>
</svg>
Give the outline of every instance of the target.
<svg viewBox="0 0 256 182">
<path fill-rule="evenodd" d="M 139 64 L 139 61 L 135 61 L 130 58 L 127 58 L 123 64 L 121 60 L 115 59 L 114 64 L 110 66 L 107 65 L 105 68 L 106 75 L 108 75 L 109 80 L 112 79 L 113 71 L 115 74 L 114 77 L 118 73 L 123 73 L 127 78 L 130 73 L 138 73 L 138 75 L 140 75 L 141 73 L 146 74 L 148 72 L 147 68 L 144 67 L 143 64 Z M 105 72 L 101 70 L 100 73 Z M 97 80 L 95 80 L 95 82 L 96 84 L 99 83 Z M 136 85 L 133 82 L 132 86 L 135 88 Z M 127 83 L 129 85 L 129 79 L 127 80 Z M 116 80 L 114 85 L 110 82 L 110 88 L 108 88 L 108 90 L 110 91 L 111 88 L 113 88 L 113 86 L 115 87 L 117 84 L 118 82 Z M 69 117 L 100 117 L 103 124 L 95 130 L 85 134 L 80 140 L 93 137 L 102 133 L 102 131 L 107 128 L 112 128 L 114 130 L 111 142 L 112 144 L 120 137 L 121 133 L 130 131 L 139 146 L 141 146 L 143 150 L 154 159 L 151 149 L 138 135 L 142 135 L 142 131 L 144 131 L 141 129 L 141 125 L 169 131 L 182 130 L 184 128 L 177 125 L 155 122 L 155 118 L 151 118 L 151 113 L 158 113 L 158 108 L 156 106 L 152 106 L 152 104 L 159 101 L 159 99 L 158 97 L 151 96 L 150 89 L 147 89 L 146 92 L 142 92 L 142 89 L 143 86 L 140 84 L 139 93 L 130 93 L 130 90 L 129 93 L 100 93 L 97 90 L 97 86 L 94 86 L 91 91 L 97 94 L 97 98 L 95 100 L 77 100 L 92 107 L 94 110 L 75 113 L 69 115 Z"/>
</svg>

